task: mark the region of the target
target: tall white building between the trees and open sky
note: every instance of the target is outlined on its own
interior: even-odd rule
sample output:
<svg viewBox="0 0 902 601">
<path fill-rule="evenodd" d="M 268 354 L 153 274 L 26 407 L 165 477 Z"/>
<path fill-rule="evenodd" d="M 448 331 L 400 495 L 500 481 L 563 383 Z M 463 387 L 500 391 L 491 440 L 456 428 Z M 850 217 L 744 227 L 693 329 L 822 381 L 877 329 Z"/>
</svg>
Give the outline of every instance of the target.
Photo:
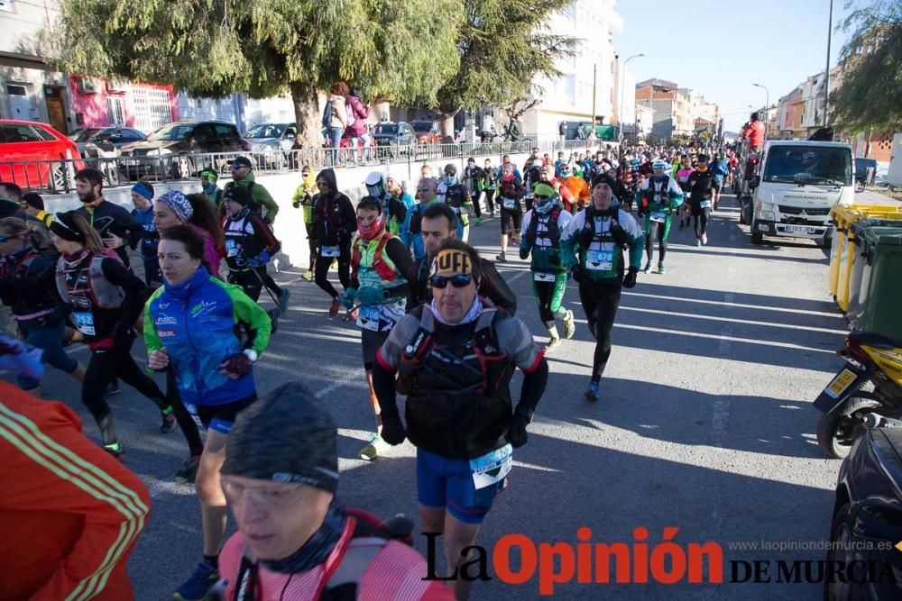
<svg viewBox="0 0 902 601">
<path fill-rule="evenodd" d="M 523 132 L 555 136 L 562 121 L 592 123 L 593 73 L 594 112 L 605 124 L 616 122 L 617 61 L 612 35 L 621 31 L 623 19 L 614 10 L 614 2 L 574 1 L 551 20 L 552 33 L 577 38 L 575 55 L 558 60 L 560 77 L 533 79 L 532 97 L 540 96 L 541 103 L 521 117 Z"/>
</svg>

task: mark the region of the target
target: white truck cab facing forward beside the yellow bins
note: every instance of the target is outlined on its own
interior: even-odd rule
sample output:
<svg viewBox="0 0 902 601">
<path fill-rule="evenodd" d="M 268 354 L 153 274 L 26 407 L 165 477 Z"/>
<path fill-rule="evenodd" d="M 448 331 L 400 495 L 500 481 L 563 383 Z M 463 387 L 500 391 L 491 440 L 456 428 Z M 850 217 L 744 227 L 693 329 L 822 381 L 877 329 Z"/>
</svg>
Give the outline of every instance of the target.
<svg viewBox="0 0 902 601">
<path fill-rule="evenodd" d="M 765 142 L 751 178 L 751 242 L 764 236 L 808 238 L 830 245 L 830 209 L 855 197 L 851 146 L 829 141 Z"/>
</svg>

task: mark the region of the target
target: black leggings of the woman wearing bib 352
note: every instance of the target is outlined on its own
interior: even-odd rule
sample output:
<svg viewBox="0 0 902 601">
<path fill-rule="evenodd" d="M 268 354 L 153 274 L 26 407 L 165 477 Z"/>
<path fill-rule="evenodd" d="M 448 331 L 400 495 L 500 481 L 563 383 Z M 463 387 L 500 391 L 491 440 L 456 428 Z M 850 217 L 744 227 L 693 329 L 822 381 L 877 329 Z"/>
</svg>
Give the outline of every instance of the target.
<svg viewBox="0 0 902 601">
<path fill-rule="evenodd" d="M 81 402 L 94 416 L 105 445 L 117 442 L 113 414 L 109 405 L 106 405 L 106 387 L 115 378 L 122 379 L 125 384 L 151 399 L 160 410 L 167 405 L 160 387 L 135 364 L 130 353 L 131 349 L 130 342 L 127 346 L 93 351 L 91 359 L 87 362 L 85 381 L 81 384 Z"/>
</svg>

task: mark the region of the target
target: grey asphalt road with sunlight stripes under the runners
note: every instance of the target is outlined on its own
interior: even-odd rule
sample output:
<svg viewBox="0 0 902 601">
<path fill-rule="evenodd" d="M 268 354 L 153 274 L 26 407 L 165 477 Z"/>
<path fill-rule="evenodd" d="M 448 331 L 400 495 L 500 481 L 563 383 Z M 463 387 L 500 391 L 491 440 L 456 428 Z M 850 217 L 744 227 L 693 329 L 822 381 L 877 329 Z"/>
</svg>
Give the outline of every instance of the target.
<svg viewBox="0 0 902 601">
<path fill-rule="evenodd" d="M 499 496 L 480 542 L 504 534 L 535 542 L 576 542 L 587 526 L 593 542 L 649 542 L 667 526 L 675 541 L 723 543 L 724 560 L 822 559 L 820 551 L 731 551 L 727 542 L 818 541 L 829 532 L 839 463 L 815 443 L 810 403 L 837 366 L 845 323 L 825 292 L 824 251 L 808 241 L 753 247 L 727 197 L 713 217 L 710 244 L 671 235 L 667 275 L 642 275 L 623 295 L 615 348 L 602 400 L 583 398 L 594 342 L 575 287 L 566 305 L 578 317 L 573 341 L 549 357 L 549 387 L 515 455 L 511 486 Z M 497 251 L 497 222 L 474 228 L 487 257 Z M 544 333 L 526 263 L 502 273 L 520 295 L 520 316 Z M 373 427 L 353 324 L 329 321 L 327 297 L 313 284 L 281 273 L 293 292 L 283 320 L 258 364 L 265 392 L 290 378 L 318 389 L 341 426 L 339 493 L 375 514 L 416 514 L 414 449 L 404 444 L 372 464 L 354 459 Z M 334 276 L 334 274 L 333 274 Z M 85 356 L 81 351 L 82 357 Z M 96 436 L 65 378 L 51 375 L 49 395 L 69 399 Z M 519 387 L 520 377 L 515 379 Z M 185 455 L 178 433 L 156 433 L 151 403 L 131 390 L 113 400 L 125 463 L 153 496 L 153 514 L 130 569 L 139 599 L 169 598 L 200 552 L 199 509 L 190 486 L 170 483 Z M 425 542 L 418 541 L 425 550 Z M 516 568 L 517 561 L 514 561 Z M 772 573 L 776 571 L 776 565 Z M 725 570 L 730 578 L 729 568 Z M 815 599 L 818 585 L 729 584 L 667 587 L 567 584 L 560 598 Z M 538 578 L 518 587 L 497 578 L 475 588 L 476 599 L 538 597 Z"/>
</svg>

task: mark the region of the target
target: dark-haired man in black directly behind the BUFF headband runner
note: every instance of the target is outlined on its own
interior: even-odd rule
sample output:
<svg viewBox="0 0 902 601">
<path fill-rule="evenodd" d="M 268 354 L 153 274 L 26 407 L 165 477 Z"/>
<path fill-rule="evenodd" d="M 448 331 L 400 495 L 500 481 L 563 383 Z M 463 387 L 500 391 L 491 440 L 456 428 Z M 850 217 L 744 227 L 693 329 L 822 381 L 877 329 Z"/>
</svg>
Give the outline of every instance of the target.
<svg viewBox="0 0 902 601">
<path fill-rule="evenodd" d="M 456 215 L 448 205 L 434 203 L 426 209 L 422 219 L 422 234 L 426 246 L 426 257 L 414 261 L 413 278 L 408 287 L 407 313 L 411 313 L 419 305 L 432 302 L 432 288 L 429 287 L 429 269 L 436 256 L 438 247 L 446 240 L 456 240 L 454 227 Z M 509 314 L 517 313 L 517 296 L 514 295 L 504 278 L 498 273 L 492 261 L 479 258 L 479 294 L 492 301 L 492 304 L 504 309 Z"/>
</svg>

